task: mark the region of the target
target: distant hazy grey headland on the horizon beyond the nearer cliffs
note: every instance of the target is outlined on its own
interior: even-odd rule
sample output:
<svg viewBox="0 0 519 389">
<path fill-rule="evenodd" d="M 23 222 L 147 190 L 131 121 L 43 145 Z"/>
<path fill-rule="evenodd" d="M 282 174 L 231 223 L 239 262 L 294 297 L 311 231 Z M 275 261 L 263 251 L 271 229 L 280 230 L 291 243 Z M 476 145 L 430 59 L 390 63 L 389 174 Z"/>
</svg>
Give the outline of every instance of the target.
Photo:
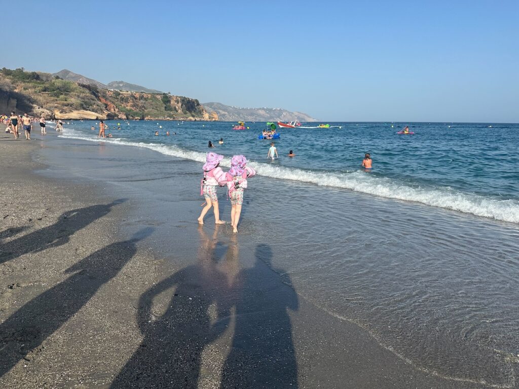
<svg viewBox="0 0 519 389">
<path fill-rule="evenodd" d="M 240 108 L 221 103 L 203 103 L 207 112 L 218 115 L 223 121 L 317 121 L 301 112 L 291 112 L 282 108 Z"/>
</svg>

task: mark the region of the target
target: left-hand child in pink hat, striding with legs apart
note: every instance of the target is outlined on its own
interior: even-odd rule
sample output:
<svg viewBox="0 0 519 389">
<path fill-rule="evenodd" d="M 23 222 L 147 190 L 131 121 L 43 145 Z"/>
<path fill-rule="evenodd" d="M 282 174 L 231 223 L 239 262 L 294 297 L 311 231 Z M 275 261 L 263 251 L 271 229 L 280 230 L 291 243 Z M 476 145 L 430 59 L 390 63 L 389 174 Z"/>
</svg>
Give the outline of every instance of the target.
<svg viewBox="0 0 519 389">
<path fill-rule="evenodd" d="M 198 223 L 203 224 L 203 217 L 213 207 L 214 223 L 225 224 L 225 221 L 220 220 L 220 210 L 218 209 L 218 197 L 216 196 L 216 187 L 224 186 L 227 182 L 225 173 L 220 168 L 220 161 L 224 158 L 223 155 L 215 152 L 208 152 L 206 156 L 206 163 L 203 165 L 203 179 L 200 182 L 200 195 L 206 198 L 206 206 L 203 207 L 202 213 L 198 218 Z"/>
</svg>

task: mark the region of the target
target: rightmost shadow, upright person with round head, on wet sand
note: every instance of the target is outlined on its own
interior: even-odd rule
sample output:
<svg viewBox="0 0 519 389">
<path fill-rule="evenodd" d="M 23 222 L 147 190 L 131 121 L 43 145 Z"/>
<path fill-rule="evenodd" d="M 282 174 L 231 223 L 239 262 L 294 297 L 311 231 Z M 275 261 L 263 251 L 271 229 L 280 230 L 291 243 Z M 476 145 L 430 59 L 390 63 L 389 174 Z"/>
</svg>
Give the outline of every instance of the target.
<svg viewBox="0 0 519 389">
<path fill-rule="evenodd" d="M 270 246 L 255 250 L 253 268 L 238 273 L 236 327 L 223 369 L 223 389 L 297 388 L 297 363 L 288 309 L 298 309 L 297 294 L 282 283 L 286 273 L 271 267 Z"/>
</svg>

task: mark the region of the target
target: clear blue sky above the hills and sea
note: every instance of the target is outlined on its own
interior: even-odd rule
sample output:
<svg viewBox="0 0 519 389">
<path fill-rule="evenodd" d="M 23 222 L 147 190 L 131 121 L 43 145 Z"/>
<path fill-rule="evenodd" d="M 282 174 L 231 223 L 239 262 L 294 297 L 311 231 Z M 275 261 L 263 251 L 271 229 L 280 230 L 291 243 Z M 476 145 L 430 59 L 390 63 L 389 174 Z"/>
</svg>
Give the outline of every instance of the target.
<svg viewBox="0 0 519 389">
<path fill-rule="evenodd" d="M 517 0 L 19 4 L 0 66 L 323 121 L 519 122 Z"/>
</svg>

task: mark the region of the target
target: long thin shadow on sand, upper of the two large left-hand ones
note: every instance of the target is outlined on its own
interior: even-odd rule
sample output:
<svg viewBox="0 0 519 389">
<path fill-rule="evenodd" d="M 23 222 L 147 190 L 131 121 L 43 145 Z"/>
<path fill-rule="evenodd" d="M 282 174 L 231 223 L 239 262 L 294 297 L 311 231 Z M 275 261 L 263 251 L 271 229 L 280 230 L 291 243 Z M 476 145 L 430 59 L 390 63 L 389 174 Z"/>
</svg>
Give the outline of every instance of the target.
<svg viewBox="0 0 519 389">
<path fill-rule="evenodd" d="M 64 212 L 53 225 L 2 244 L 0 263 L 17 258 L 23 254 L 36 253 L 50 247 L 61 246 L 69 242 L 74 232 L 108 214 L 114 205 L 124 201 L 116 200 L 110 204 L 91 205 Z"/>
</svg>

